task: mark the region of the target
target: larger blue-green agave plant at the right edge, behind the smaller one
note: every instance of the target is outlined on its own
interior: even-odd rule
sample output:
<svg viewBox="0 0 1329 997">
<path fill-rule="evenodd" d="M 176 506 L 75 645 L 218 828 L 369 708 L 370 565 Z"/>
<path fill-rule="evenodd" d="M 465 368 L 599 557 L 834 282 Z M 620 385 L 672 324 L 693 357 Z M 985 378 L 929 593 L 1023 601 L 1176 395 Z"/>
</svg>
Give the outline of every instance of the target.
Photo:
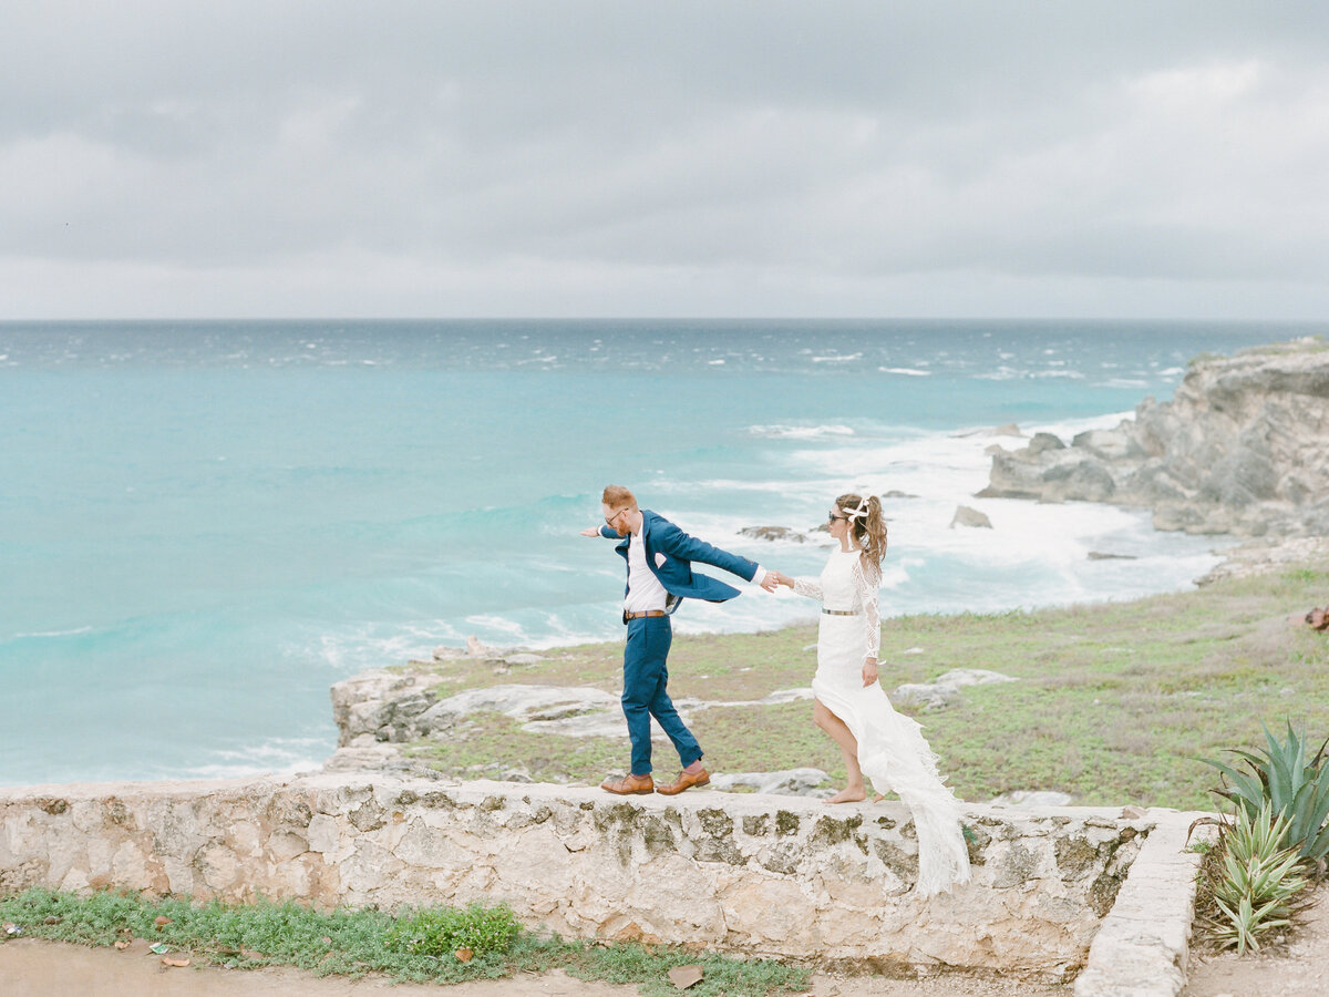
<svg viewBox="0 0 1329 997">
<path fill-rule="evenodd" d="M 1200 759 L 1217 768 L 1231 783 L 1212 792 L 1237 804 L 1239 812 L 1247 818 L 1253 818 L 1269 804 L 1271 812 L 1285 822 L 1285 844 L 1296 848 L 1298 859 L 1314 863 L 1324 872 L 1325 856 L 1329 855 L 1329 827 L 1325 827 L 1329 818 L 1329 764 L 1325 763 L 1329 739 L 1308 759 L 1305 731 L 1298 735 L 1292 730 L 1290 720 L 1286 742 L 1280 742 L 1268 727 L 1260 726 L 1267 742 L 1264 750 L 1232 750 L 1249 771 Z"/>
</svg>

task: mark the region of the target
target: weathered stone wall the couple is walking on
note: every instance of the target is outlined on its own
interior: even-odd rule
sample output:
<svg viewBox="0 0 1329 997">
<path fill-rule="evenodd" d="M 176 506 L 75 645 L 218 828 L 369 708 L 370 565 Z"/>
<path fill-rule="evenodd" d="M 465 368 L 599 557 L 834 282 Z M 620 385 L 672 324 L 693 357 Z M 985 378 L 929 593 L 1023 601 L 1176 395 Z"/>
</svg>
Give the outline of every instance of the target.
<svg viewBox="0 0 1329 997">
<path fill-rule="evenodd" d="M 28 787 L 0 790 L 0 891 L 501 900 L 581 937 L 1066 977 L 1159 816 L 973 807 L 974 881 L 920 900 L 898 804 L 344 774 Z"/>
</svg>

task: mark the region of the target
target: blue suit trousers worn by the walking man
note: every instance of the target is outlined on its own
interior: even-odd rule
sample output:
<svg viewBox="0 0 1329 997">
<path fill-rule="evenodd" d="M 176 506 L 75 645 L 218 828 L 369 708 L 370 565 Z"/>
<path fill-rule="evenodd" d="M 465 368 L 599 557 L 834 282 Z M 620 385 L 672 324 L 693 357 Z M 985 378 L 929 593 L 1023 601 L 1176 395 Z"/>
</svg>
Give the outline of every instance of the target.
<svg viewBox="0 0 1329 997">
<path fill-rule="evenodd" d="M 668 617 L 642 617 L 627 621 L 623 649 L 623 717 L 633 742 L 633 775 L 651 771 L 651 717 L 674 742 L 683 767 L 702 756 L 702 748 L 683 718 L 674 709 L 664 686 L 668 683 L 668 649 L 674 629 Z"/>
</svg>

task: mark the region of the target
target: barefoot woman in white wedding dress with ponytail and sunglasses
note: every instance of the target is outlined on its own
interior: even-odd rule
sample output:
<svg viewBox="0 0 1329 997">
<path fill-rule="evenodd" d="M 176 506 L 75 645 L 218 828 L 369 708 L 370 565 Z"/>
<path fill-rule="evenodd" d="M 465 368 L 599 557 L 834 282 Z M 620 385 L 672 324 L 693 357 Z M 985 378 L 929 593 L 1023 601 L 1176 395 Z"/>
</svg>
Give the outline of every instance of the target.
<svg viewBox="0 0 1329 997">
<path fill-rule="evenodd" d="M 940 893 L 969 881 L 969 851 L 960 802 L 938 778 L 937 756 L 922 728 L 896 713 L 877 683 L 877 589 L 886 556 L 881 502 L 876 496 L 841 495 L 828 525 L 840 549 L 820 578 L 775 573 L 780 585 L 821 602 L 812 718 L 840 746 L 849 774 L 849 784 L 827 803 L 867 799 L 864 774 L 877 791 L 900 794 L 918 833 L 916 889 L 921 896 Z"/>
</svg>

